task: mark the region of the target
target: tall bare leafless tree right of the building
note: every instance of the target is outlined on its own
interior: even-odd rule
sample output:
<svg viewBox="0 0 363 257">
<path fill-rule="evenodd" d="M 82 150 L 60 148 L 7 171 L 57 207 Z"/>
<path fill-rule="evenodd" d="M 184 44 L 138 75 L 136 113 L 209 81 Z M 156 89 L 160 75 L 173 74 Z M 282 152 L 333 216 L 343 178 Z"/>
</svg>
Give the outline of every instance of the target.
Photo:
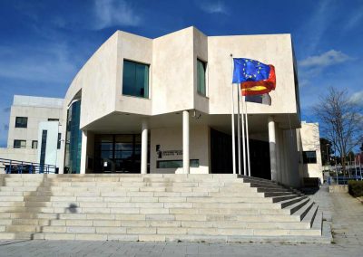
<svg viewBox="0 0 363 257">
<path fill-rule="evenodd" d="M 338 152 L 343 172 L 346 173 L 348 152 L 363 140 L 363 116 L 361 107 L 348 98 L 347 90 L 329 88 L 313 107 L 319 119 L 322 135 Z"/>
</svg>

